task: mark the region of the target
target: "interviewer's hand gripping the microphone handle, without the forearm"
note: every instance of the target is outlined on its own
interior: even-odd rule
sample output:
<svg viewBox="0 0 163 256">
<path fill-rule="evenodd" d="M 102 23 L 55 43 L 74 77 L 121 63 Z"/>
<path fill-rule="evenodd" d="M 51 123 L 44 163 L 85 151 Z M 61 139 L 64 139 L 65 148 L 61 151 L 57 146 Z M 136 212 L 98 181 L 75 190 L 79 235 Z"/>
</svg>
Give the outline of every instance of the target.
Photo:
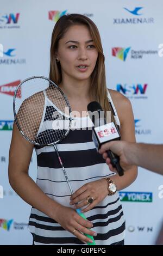
<svg viewBox="0 0 163 256">
<path fill-rule="evenodd" d="M 112 141 L 102 145 L 101 149 L 99 149 L 99 153 L 103 155 L 103 158 L 106 160 L 106 164 L 108 164 L 110 170 L 112 172 L 117 172 L 115 168 L 112 167 L 110 163 L 110 158 L 106 151 L 109 149 L 120 156 L 120 165 L 124 170 L 128 170 L 131 168 L 132 164 L 129 162 L 129 157 L 127 154 L 127 149 L 133 145 L 131 142 L 124 142 L 124 141 Z"/>
</svg>

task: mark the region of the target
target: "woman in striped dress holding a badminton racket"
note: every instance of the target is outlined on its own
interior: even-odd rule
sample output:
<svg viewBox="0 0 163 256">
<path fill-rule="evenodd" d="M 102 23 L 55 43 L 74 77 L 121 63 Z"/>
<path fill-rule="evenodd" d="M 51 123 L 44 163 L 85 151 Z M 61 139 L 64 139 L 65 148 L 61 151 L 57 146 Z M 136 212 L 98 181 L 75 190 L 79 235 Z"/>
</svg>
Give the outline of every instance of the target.
<svg viewBox="0 0 163 256">
<path fill-rule="evenodd" d="M 96 25 L 89 18 L 78 14 L 65 15 L 55 24 L 49 78 L 66 94 L 72 111 L 78 113 L 76 121 L 81 123 L 82 120 L 82 126 L 71 130 L 58 145 L 75 191 L 70 198 L 53 147 L 52 150 L 35 147 L 37 183 L 28 176 L 33 145 L 21 137 L 14 124 L 9 181 L 12 188 L 33 206 L 29 229 L 34 244 L 91 242 L 83 234 L 86 233 L 95 237 L 97 245 L 123 245 L 125 222 L 116 188 L 122 190 L 129 186 L 136 178 L 137 169 L 132 167 L 121 177 L 108 170 L 95 149 L 92 131 L 85 125 L 87 117 L 82 113 L 93 100 L 101 103 L 105 111 L 110 111 L 112 106 L 112 119 L 120 126 L 122 139 L 129 142 L 135 142 L 134 118 L 129 100 L 106 89 L 101 39 Z M 111 180 L 104 179 L 108 177 Z M 114 184 L 114 191 L 110 190 L 109 184 Z M 88 221 L 77 214 L 75 203 L 79 203 L 78 207 L 83 209 Z"/>
</svg>

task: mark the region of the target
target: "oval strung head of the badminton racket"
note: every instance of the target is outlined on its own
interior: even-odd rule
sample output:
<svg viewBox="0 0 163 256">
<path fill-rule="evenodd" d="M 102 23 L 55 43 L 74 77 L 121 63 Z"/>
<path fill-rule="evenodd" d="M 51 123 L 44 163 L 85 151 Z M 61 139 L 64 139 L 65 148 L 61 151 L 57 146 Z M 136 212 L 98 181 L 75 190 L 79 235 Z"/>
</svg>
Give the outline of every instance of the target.
<svg viewBox="0 0 163 256">
<path fill-rule="evenodd" d="M 52 103 L 51 107 L 47 106 L 47 101 Z M 71 107 L 66 95 L 57 84 L 44 76 L 32 76 L 18 84 L 13 111 L 21 135 L 35 145 L 57 144 L 71 128 Z M 53 120 L 53 125 L 46 118 Z M 43 123 L 47 123 L 47 130 L 40 136 L 39 129 Z M 60 124 L 62 130 L 58 129 Z"/>
</svg>

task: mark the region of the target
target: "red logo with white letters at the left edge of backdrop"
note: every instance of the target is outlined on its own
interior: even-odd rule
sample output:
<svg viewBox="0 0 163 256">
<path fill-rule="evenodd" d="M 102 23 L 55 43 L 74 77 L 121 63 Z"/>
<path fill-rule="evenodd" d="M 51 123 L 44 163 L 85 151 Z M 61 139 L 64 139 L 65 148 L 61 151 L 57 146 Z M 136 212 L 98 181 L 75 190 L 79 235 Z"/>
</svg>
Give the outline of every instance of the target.
<svg viewBox="0 0 163 256">
<path fill-rule="evenodd" d="M 21 82 L 20 80 L 17 80 L 15 82 L 7 83 L 7 84 L 4 84 L 3 86 L 0 86 L 0 93 L 14 96 L 16 87 L 18 86 L 18 84 L 20 84 L 20 82 Z M 21 87 L 18 89 L 17 97 L 21 98 Z"/>
</svg>

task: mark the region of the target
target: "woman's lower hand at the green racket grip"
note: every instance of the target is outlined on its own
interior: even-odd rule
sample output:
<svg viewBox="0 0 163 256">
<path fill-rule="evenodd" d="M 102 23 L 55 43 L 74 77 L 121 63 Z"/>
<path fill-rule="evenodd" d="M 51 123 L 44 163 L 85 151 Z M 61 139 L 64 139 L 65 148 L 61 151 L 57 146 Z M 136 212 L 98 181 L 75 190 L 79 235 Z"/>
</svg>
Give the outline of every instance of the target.
<svg viewBox="0 0 163 256">
<path fill-rule="evenodd" d="M 88 220 L 84 220 L 84 218 L 77 214 L 76 210 L 70 207 L 59 205 L 57 211 L 55 211 L 54 220 L 57 221 L 62 228 L 68 230 L 74 236 L 77 236 L 78 239 L 84 243 L 92 242 L 90 238 L 84 234 L 91 236 L 97 235 L 96 232 L 90 230 L 93 224 Z"/>
</svg>

